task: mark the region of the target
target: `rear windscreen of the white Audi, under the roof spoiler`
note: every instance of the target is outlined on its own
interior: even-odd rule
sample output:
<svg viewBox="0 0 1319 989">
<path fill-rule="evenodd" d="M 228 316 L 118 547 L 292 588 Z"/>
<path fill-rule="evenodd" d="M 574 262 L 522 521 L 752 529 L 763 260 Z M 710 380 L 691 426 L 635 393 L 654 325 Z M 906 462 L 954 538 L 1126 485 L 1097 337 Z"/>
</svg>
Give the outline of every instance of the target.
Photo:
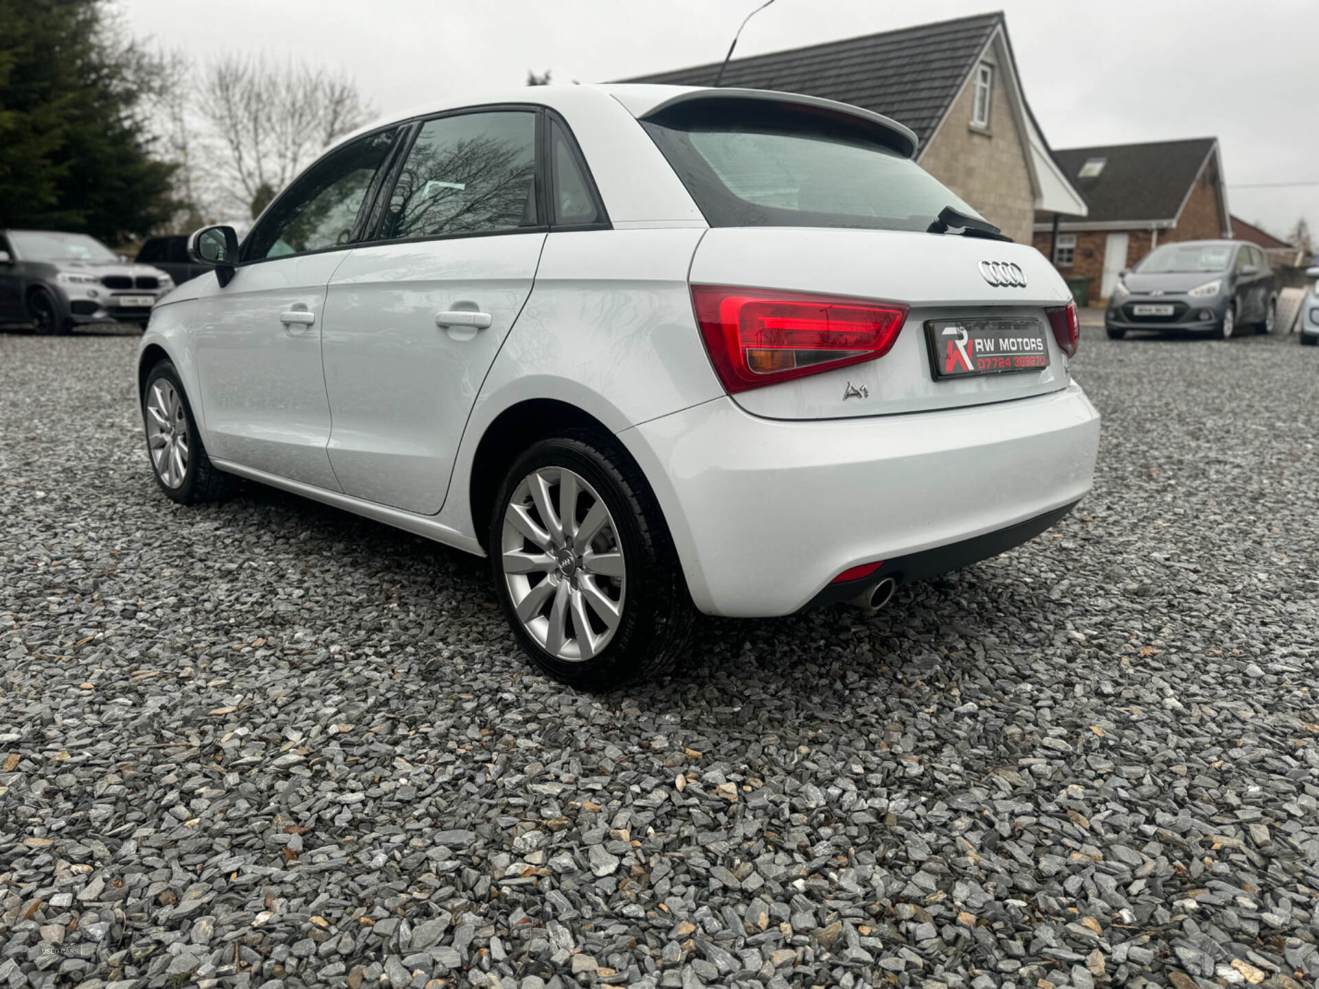
<svg viewBox="0 0 1319 989">
<path fill-rule="evenodd" d="M 692 100 L 642 121 L 712 227 L 923 231 L 979 216 L 860 117 L 765 100 Z"/>
</svg>

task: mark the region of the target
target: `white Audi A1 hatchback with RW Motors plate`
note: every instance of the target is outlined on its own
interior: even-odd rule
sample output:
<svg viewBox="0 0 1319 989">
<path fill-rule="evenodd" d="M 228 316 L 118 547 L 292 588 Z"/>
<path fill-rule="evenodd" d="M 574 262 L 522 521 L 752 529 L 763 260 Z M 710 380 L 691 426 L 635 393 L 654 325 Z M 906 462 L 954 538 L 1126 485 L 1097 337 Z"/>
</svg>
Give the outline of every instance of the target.
<svg viewBox="0 0 1319 989">
<path fill-rule="evenodd" d="M 995 555 L 1091 487 L 1075 306 L 810 96 L 521 90 L 344 140 L 152 313 L 179 502 L 247 477 L 492 562 L 517 640 L 601 690 L 695 612 L 853 600 Z"/>
</svg>

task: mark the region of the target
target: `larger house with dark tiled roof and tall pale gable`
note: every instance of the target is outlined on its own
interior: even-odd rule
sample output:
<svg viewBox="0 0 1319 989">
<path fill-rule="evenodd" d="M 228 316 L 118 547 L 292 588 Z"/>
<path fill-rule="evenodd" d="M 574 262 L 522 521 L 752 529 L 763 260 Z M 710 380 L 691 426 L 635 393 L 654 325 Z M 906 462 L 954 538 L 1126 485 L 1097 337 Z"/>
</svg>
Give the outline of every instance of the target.
<svg viewBox="0 0 1319 989">
<path fill-rule="evenodd" d="M 624 82 L 714 86 L 719 63 Z M 1002 13 L 737 58 L 723 86 L 851 103 L 906 124 L 917 161 L 1013 240 L 1038 211 L 1086 215 L 1026 103 Z"/>
</svg>

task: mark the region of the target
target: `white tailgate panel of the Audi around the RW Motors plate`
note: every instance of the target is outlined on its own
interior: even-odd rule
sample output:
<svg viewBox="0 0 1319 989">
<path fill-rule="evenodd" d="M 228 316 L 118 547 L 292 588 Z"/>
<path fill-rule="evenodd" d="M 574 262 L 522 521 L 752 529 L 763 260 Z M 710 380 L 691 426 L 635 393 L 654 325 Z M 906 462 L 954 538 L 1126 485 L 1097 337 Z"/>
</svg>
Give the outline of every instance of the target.
<svg viewBox="0 0 1319 989">
<path fill-rule="evenodd" d="M 989 262 L 981 265 L 981 262 Z M 1025 285 L 991 285 L 997 264 L 1016 265 Z M 1010 270 L 1010 269 L 1008 269 Z M 1067 356 L 1046 307 L 1066 306 L 1067 286 L 1033 247 L 955 235 L 813 227 L 716 227 L 696 248 L 692 285 L 807 291 L 901 302 L 910 307 L 893 348 L 876 360 L 733 394 L 747 411 L 819 419 L 951 409 L 1026 398 L 1066 388 Z M 988 324 L 981 320 L 1021 320 Z M 931 347 L 926 326 L 935 327 Z M 1009 328 L 1043 335 L 1043 368 L 936 380 L 935 353 L 960 320 L 987 336 Z M 985 344 L 983 344 L 985 345 Z M 992 344 L 989 344 L 992 345 Z"/>
</svg>

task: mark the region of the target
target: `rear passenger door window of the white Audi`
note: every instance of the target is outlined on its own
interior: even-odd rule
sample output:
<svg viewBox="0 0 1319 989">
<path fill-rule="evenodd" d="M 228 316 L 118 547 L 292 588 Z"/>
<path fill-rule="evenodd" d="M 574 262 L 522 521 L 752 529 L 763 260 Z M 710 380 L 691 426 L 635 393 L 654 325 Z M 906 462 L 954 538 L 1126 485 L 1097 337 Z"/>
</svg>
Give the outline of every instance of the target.
<svg viewBox="0 0 1319 989">
<path fill-rule="evenodd" d="M 381 236 L 491 233 L 537 223 L 536 113 L 462 113 L 422 125 Z"/>
</svg>

